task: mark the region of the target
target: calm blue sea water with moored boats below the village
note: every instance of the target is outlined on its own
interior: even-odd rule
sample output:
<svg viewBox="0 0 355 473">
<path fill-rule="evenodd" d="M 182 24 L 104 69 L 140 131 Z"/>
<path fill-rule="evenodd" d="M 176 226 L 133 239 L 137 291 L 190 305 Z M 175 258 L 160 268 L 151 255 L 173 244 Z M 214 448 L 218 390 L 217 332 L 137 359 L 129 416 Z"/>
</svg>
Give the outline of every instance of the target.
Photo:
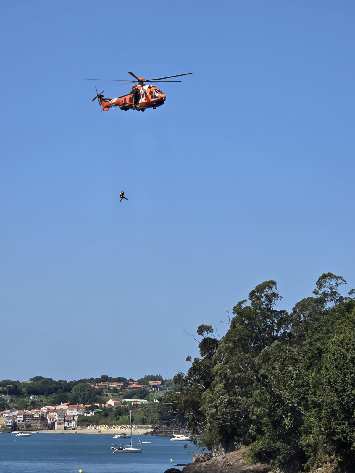
<svg viewBox="0 0 355 473">
<path fill-rule="evenodd" d="M 0 434 L 1 473 L 164 473 L 168 468 L 182 470 L 192 461 L 196 447 L 184 449 L 185 442 L 169 437 L 143 436 L 142 454 L 115 454 L 112 445 L 129 444 L 129 439 L 110 434 L 38 433 L 31 437 Z M 188 442 L 187 442 L 188 443 Z M 133 447 L 135 445 L 133 436 Z M 171 462 L 170 459 L 173 459 Z"/>
</svg>

